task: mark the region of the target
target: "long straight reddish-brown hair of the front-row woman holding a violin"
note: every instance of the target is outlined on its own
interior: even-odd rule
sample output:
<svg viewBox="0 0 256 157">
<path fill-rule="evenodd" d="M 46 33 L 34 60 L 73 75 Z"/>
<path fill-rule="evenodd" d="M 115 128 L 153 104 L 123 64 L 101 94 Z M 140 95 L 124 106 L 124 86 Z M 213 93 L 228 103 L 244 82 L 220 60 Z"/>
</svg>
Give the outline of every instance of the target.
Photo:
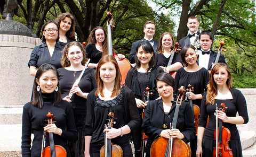
<svg viewBox="0 0 256 157">
<path fill-rule="evenodd" d="M 108 63 L 108 62 L 113 63 L 116 68 L 116 79 L 115 79 L 114 89 L 111 94 L 111 97 L 115 97 L 116 95 L 118 95 L 120 93 L 122 76 L 121 76 L 121 72 L 120 72 L 118 63 L 117 63 L 115 57 L 112 55 L 105 55 L 99 60 L 99 63 L 98 63 L 97 69 L 96 69 L 96 81 L 98 84 L 98 89 L 95 91 L 95 95 L 99 95 L 99 93 L 100 93 L 101 97 L 104 97 L 104 94 L 102 91 L 103 90 L 103 81 L 100 78 L 100 67 L 103 64 Z"/>
</svg>

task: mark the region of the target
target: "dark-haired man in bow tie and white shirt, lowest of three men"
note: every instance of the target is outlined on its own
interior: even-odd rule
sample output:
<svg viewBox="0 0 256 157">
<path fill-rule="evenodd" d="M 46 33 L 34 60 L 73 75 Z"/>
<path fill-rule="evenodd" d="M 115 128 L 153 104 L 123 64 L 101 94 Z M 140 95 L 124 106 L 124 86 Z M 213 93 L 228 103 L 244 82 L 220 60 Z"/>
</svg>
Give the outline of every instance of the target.
<svg viewBox="0 0 256 157">
<path fill-rule="evenodd" d="M 217 57 L 217 53 L 211 50 L 212 34 L 207 31 L 202 31 L 201 34 L 199 34 L 199 41 L 201 51 L 198 51 L 198 65 L 206 68 L 207 70 L 211 70 Z M 225 57 L 222 54 L 220 54 L 218 63 L 220 62 L 226 64 Z"/>
</svg>

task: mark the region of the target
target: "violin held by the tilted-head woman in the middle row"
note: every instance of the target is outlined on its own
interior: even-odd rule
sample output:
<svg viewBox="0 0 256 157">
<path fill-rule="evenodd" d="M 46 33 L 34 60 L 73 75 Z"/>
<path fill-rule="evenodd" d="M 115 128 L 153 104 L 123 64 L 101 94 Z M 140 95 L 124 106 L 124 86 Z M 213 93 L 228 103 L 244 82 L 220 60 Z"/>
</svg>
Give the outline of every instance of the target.
<svg viewBox="0 0 256 157">
<path fill-rule="evenodd" d="M 194 92 L 194 87 L 191 84 L 188 84 L 188 89 L 187 92 Z M 189 97 L 190 94 L 186 94 L 187 97 Z M 189 105 L 193 110 L 194 113 L 194 123 L 196 127 L 196 136 L 197 136 L 197 127 L 198 127 L 198 122 L 199 122 L 199 115 L 200 115 L 200 108 L 196 105 L 193 104 L 193 101 L 189 99 Z"/>
</svg>

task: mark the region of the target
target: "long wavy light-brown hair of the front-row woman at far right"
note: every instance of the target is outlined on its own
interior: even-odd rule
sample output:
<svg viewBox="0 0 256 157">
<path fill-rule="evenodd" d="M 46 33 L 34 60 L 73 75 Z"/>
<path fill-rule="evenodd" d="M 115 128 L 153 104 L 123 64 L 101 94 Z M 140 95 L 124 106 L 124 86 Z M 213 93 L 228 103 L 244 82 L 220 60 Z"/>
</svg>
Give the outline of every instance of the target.
<svg viewBox="0 0 256 157">
<path fill-rule="evenodd" d="M 228 79 L 227 79 L 227 86 L 228 89 L 230 90 L 232 87 L 232 77 L 231 77 L 231 73 L 230 70 L 228 68 L 228 66 L 225 63 L 217 63 L 211 71 L 210 74 L 210 83 L 207 85 L 207 94 L 206 94 L 206 104 L 213 104 L 214 103 L 214 98 L 217 96 L 217 84 L 214 81 L 213 75 L 221 68 L 221 67 L 225 67 L 227 72 L 228 72 Z"/>
</svg>

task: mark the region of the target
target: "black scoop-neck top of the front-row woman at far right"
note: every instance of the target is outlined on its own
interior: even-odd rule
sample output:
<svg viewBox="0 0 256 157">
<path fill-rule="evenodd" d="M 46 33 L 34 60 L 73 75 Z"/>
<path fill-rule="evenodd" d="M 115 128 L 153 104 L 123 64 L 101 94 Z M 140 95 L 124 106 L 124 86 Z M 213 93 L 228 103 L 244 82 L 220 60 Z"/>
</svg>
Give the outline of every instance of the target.
<svg viewBox="0 0 256 157">
<path fill-rule="evenodd" d="M 226 104 L 226 115 L 228 117 L 236 117 L 236 114 L 238 112 L 238 115 L 243 117 L 244 124 L 248 123 L 249 117 L 246 107 L 246 100 L 244 98 L 244 95 L 241 93 L 241 91 L 237 89 L 231 88 L 230 90 L 233 99 L 225 99 L 225 100 L 219 100 L 215 99 L 214 105 L 213 104 L 206 104 L 206 94 L 205 92 L 202 104 L 201 104 L 201 112 L 200 112 L 200 118 L 199 118 L 199 124 L 198 127 L 206 127 L 207 124 L 207 117 L 209 116 L 209 122 L 204 132 L 204 138 L 208 139 L 214 139 L 214 129 L 216 124 L 216 117 L 214 116 L 214 112 L 216 110 L 215 103 L 217 103 L 218 109 L 220 108 L 220 104 L 224 102 Z M 222 123 L 222 125 L 230 130 L 231 137 L 230 139 L 239 139 L 239 133 L 237 130 L 237 127 L 235 124 L 230 123 Z"/>
</svg>

